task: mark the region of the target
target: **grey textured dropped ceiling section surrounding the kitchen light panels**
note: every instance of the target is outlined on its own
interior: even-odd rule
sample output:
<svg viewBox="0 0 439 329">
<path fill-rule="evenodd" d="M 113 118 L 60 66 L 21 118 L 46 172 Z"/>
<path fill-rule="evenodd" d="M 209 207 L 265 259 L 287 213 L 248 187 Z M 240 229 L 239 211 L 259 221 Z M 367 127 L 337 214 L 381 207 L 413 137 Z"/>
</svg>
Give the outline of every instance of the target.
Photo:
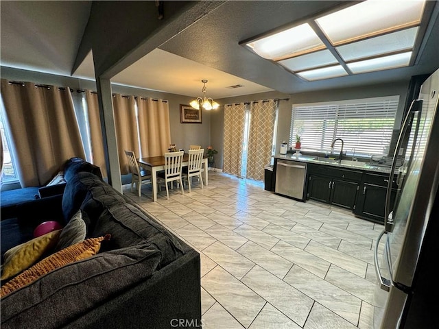
<svg viewBox="0 0 439 329">
<path fill-rule="evenodd" d="M 431 24 L 429 36 L 426 37 L 425 48 L 418 64 L 411 67 L 305 82 L 280 65 L 263 60 L 239 45 L 239 42 L 248 38 L 288 23 L 298 23 L 309 16 L 346 3 L 347 1 L 228 1 L 169 40 L 161 49 L 289 94 L 396 80 L 408 81 L 412 75 L 432 73 L 438 69 L 437 1 L 431 3 L 436 4 L 432 21 L 434 24 Z M 200 44 L 202 47 L 197 47 Z"/>
</svg>

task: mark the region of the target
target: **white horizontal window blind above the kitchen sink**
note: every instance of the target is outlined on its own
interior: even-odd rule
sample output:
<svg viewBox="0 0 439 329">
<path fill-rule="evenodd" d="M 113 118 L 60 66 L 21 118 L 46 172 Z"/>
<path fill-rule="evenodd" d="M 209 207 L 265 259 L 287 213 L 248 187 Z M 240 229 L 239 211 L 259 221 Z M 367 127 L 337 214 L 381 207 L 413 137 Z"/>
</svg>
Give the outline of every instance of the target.
<svg viewBox="0 0 439 329">
<path fill-rule="evenodd" d="M 387 156 L 398 103 L 399 96 L 390 96 L 293 105 L 289 142 L 299 135 L 302 148 L 329 151 L 342 138 L 344 151 Z"/>
</svg>

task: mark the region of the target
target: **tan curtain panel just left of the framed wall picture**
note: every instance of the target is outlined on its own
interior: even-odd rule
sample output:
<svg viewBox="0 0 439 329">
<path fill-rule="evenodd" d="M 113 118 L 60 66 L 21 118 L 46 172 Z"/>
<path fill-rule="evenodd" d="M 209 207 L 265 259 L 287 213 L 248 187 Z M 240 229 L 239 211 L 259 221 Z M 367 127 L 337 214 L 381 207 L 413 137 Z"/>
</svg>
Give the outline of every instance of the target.
<svg viewBox="0 0 439 329">
<path fill-rule="evenodd" d="M 139 158 L 163 156 L 171 143 L 169 103 L 162 99 L 137 97 L 139 108 L 139 134 L 141 154 Z"/>
</svg>

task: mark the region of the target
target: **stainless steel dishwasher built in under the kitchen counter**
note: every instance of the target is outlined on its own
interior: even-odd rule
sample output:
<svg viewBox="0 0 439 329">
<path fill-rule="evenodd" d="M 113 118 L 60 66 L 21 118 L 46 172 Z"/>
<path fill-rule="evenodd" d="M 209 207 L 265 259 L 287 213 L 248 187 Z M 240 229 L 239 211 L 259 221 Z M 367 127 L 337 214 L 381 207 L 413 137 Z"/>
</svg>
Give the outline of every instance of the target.
<svg viewBox="0 0 439 329">
<path fill-rule="evenodd" d="M 307 163 L 277 160 L 274 192 L 304 201 L 306 176 Z"/>
</svg>

